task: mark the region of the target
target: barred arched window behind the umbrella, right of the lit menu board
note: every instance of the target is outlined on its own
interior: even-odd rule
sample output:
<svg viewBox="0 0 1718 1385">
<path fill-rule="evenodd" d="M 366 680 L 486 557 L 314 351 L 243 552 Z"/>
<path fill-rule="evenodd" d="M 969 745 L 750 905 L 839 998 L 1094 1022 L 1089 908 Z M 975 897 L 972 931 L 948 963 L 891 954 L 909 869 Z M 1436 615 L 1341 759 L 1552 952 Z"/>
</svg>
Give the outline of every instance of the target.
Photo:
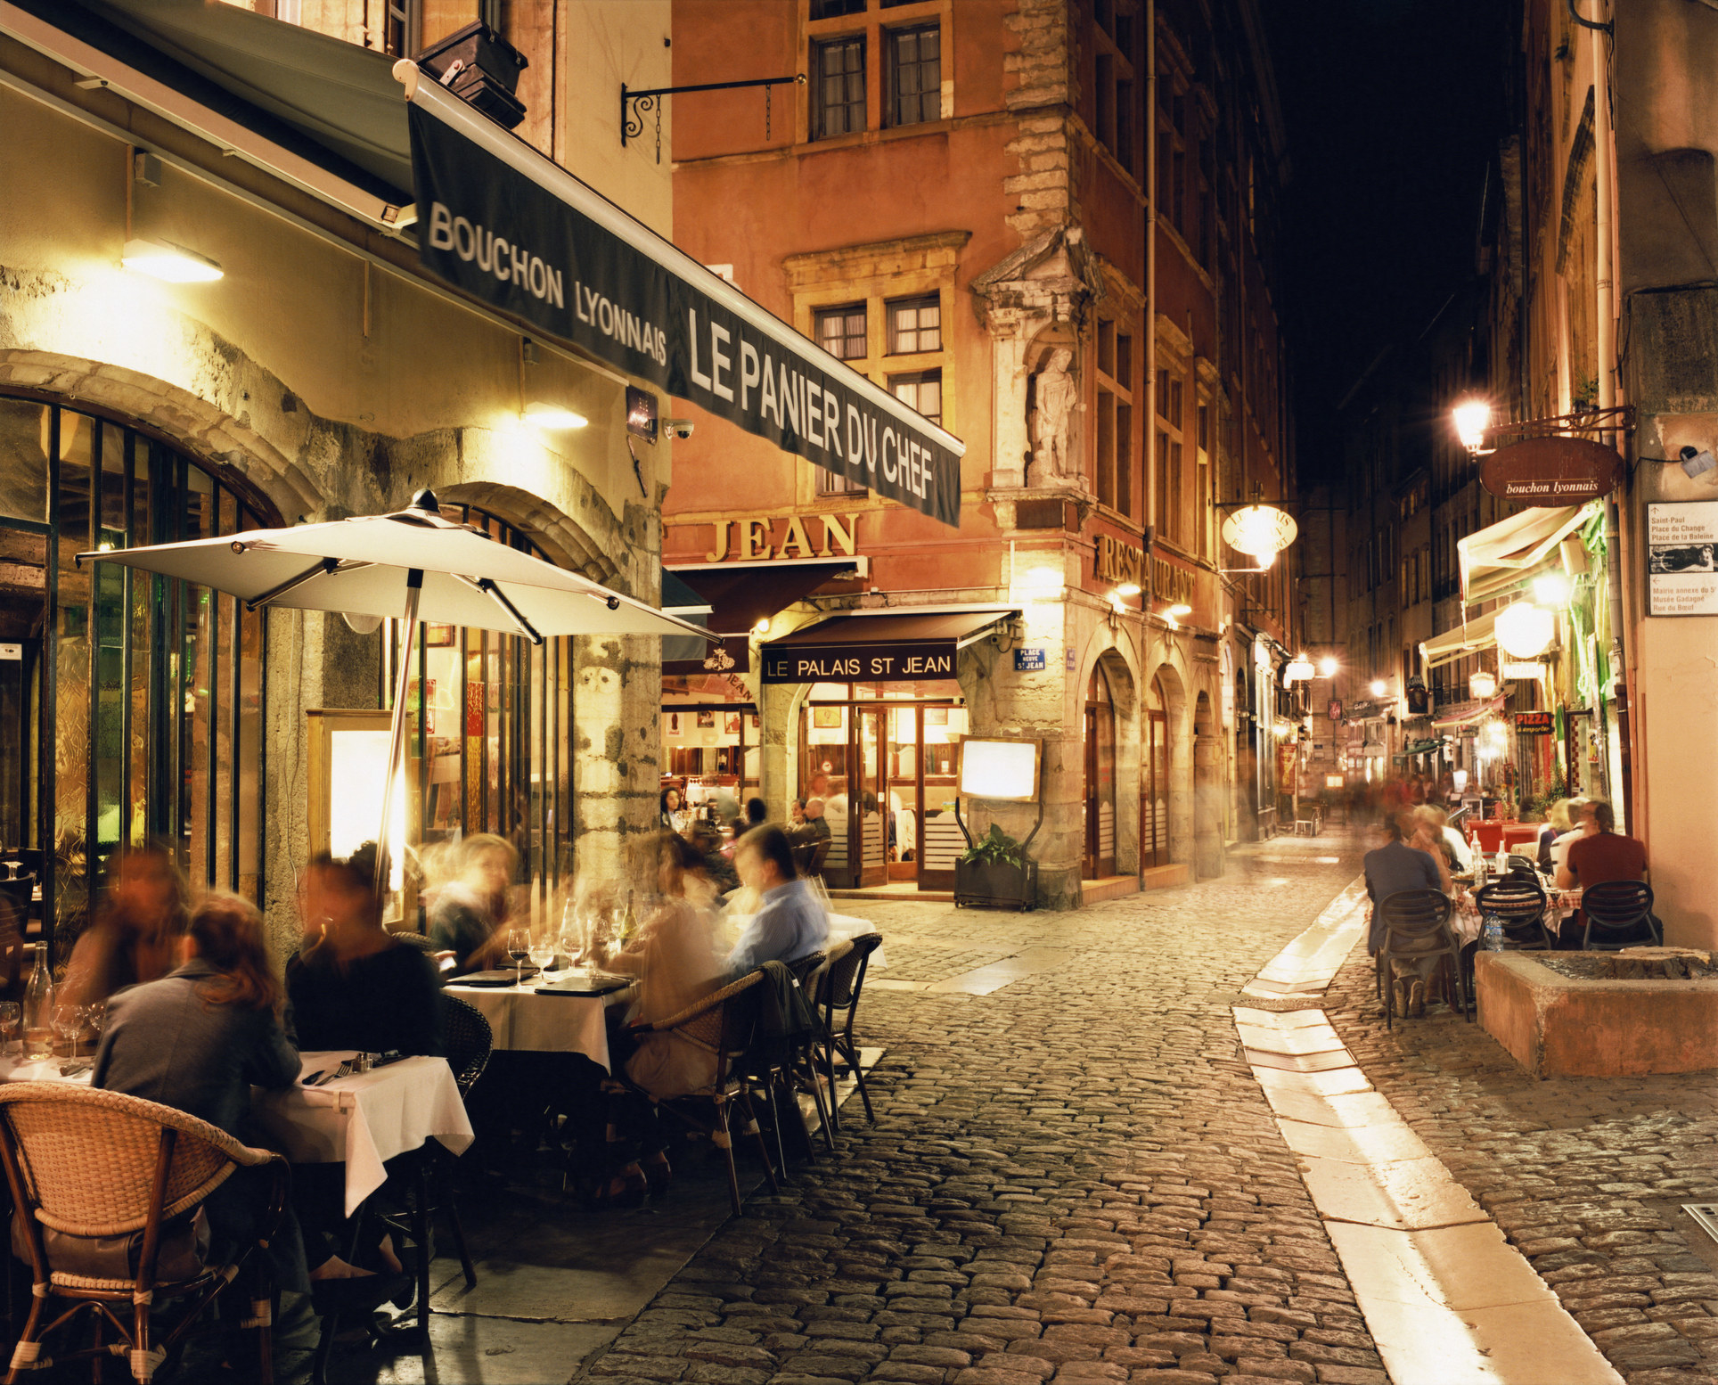
<svg viewBox="0 0 1718 1385">
<path fill-rule="evenodd" d="M 442 514 L 545 558 L 514 526 L 471 505 Z M 399 622 L 387 622 L 383 705 L 399 686 Z M 550 897 L 574 871 L 572 660 L 567 636 L 421 625 L 405 684 L 407 837 L 419 851 L 491 832 L 519 851 L 519 882 Z"/>
</svg>

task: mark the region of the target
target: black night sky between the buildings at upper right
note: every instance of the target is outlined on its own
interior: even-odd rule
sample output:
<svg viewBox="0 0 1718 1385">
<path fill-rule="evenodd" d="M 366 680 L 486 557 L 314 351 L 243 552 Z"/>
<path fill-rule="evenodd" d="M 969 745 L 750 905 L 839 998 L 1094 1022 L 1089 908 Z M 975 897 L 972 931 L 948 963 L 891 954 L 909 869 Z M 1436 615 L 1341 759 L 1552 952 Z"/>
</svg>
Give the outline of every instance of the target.
<svg viewBox="0 0 1718 1385">
<path fill-rule="evenodd" d="M 1474 273 L 1481 189 L 1508 131 L 1512 0 L 1259 0 L 1287 124 L 1280 273 L 1302 481 L 1331 411 L 1386 344 Z"/>
</svg>

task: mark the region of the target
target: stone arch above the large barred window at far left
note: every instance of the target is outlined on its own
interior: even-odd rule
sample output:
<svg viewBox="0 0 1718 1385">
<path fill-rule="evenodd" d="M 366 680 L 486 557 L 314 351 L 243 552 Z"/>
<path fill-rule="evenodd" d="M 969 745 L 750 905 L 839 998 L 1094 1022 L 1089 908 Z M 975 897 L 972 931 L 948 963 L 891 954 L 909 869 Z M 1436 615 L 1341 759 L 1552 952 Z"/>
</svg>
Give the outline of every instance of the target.
<svg viewBox="0 0 1718 1385">
<path fill-rule="evenodd" d="M 5 388 L 141 424 L 196 461 L 242 479 L 287 524 L 323 505 L 311 478 L 249 416 L 234 418 L 160 376 L 50 351 L 0 349 Z"/>
</svg>

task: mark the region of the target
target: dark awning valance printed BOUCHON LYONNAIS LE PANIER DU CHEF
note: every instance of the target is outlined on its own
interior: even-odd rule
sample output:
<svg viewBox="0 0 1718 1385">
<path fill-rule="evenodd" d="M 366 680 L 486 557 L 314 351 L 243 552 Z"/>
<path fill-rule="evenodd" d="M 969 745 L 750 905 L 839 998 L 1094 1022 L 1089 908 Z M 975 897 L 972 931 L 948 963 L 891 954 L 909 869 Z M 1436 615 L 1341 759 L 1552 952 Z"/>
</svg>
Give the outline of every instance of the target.
<svg viewBox="0 0 1718 1385">
<path fill-rule="evenodd" d="M 783 452 L 959 526 L 959 438 L 531 146 L 502 136 L 491 151 L 488 122 L 411 64 L 395 74 L 411 100 L 426 270 Z"/>
</svg>

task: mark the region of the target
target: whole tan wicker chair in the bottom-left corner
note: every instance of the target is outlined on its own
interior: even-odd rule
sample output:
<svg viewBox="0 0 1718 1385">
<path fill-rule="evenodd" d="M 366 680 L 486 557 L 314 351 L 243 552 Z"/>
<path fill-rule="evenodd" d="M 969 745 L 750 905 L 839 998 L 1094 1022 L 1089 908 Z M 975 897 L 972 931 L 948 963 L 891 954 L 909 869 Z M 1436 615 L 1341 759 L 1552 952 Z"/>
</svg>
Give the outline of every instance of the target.
<svg viewBox="0 0 1718 1385">
<path fill-rule="evenodd" d="M 33 1277 L 29 1318 L 12 1349 L 7 1385 L 22 1371 L 53 1364 L 41 1351 L 45 1340 L 84 1313 L 94 1318 L 94 1345 L 58 1359 L 91 1359 L 100 1371 L 101 1359 L 125 1356 L 132 1378 L 148 1382 L 247 1258 L 256 1278 L 242 1327 L 258 1330 L 258 1378 L 265 1385 L 273 1380 L 275 1287 L 266 1258 L 251 1253 L 268 1246 L 285 1208 L 289 1174 L 280 1155 L 137 1096 L 70 1083 L 5 1083 L 0 1162 Z M 259 1167 L 271 1170 L 273 1191 L 258 1239 L 227 1263 L 208 1263 L 196 1251 L 198 1210 L 234 1170 Z M 100 1248 L 98 1237 L 105 1241 Z M 168 1242 L 175 1248 L 170 1270 L 161 1263 Z M 172 1277 L 163 1278 L 163 1272 Z M 70 1308 L 45 1323 L 52 1299 Z M 191 1299 L 191 1309 L 160 1342 L 151 1339 L 149 1323 L 156 1299 Z M 108 1327 L 119 1340 L 103 1344 Z"/>
</svg>

